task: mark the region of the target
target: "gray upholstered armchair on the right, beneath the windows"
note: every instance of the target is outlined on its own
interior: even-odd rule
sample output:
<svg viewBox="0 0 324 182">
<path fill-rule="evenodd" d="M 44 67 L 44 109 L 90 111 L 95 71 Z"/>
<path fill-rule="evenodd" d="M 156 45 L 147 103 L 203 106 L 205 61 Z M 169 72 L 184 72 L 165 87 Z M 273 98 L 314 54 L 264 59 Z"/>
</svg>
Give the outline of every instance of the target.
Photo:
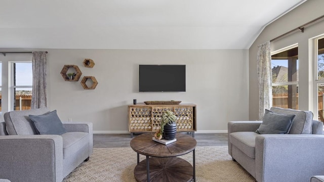
<svg viewBox="0 0 324 182">
<path fill-rule="evenodd" d="M 262 121 L 228 122 L 228 153 L 259 182 L 310 181 L 324 173 L 323 123 L 309 111 L 271 108 L 294 114 L 287 134 L 258 134 Z"/>
</svg>

